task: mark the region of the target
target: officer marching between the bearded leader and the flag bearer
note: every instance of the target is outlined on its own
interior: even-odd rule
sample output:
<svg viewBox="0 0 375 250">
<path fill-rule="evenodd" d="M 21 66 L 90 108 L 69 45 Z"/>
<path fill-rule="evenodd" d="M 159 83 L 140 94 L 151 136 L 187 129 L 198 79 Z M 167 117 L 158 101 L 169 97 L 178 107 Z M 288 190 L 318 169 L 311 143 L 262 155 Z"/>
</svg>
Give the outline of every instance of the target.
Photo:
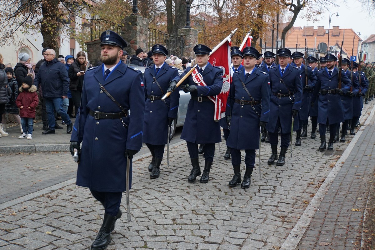
<svg viewBox="0 0 375 250">
<path fill-rule="evenodd" d="M 178 75 L 178 70 L 164 63 L 168 51 L 163 45 L 155 44 L 151 51 L 154 64 L 145 69 L 143 76 L 146 98 L 143 142 L 152 155 L 148 171 L 152 171 L 150 178 L 155 179 L 160 175 L 164 145 L 169 136 L 168 125 L 171 126 L 177 117 L 180 91 L 177 89 L 164 102 L 161 100 L 167 93 L 169 82 Z"/>
</svg>

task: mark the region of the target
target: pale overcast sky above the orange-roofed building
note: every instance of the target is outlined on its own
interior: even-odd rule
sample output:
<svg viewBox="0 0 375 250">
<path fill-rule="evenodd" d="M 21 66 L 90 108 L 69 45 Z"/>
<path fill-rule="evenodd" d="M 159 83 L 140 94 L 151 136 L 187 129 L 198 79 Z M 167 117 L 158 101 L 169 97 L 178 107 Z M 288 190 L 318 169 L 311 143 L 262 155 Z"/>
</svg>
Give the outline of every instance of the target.
<svg viewBox="0 0 375 250">
<path fill-rule="evenodd" d="M 372 0 L 368 0 L 372 1 Z M 375 10 L 370 16 L 367 10 L 363 10 L 362 4 L 357 0 L 336 0 L 336 4 L 340 7 L 330 7 L 331 15 L 335 12 L 339 13 L 339 16 L 336 17 L 336 14 L 331 18 L 330 29 L 332 26 L 340 26 L 340 28 L 352 28 L 355 32 L 360 32 L 360 37 L 362 40 L 368 38 L 371 34 L 375 34 Z M 317 18 L 320 19 L 318 22 L 308 22 L 303 16 L 305 15 L 302 10 L 294 23 L 294 26 L 324 26 L 328 29 L 329 23 L 329 11 L 323 13 Z"/>
</svg>

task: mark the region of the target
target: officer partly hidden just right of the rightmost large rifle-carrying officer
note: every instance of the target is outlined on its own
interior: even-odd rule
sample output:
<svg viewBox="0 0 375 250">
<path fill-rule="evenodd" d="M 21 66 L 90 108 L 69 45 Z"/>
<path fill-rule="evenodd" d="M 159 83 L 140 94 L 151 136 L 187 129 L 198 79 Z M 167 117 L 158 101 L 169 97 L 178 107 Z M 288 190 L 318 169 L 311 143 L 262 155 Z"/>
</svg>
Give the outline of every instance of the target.
<svg viewBox="0 0 375 250">
<path fill-rule="evenodd" d="M 351 80 L 352 87 L 346 95 L 341 96 L 342 108 L 344 111 L 344 122 L 342 123 L 341 142 L 345 142 L 345 135 L 348 134 L 348 124 L 353 118 L 353 97 L 359 93 L 359 82 L 356 74 L 353 74 L 350 70 L 350 61 L 347 58 L 342 58 L 341 68 L 345 75 Z M 339 134 L 340 126 L 336 129 L 336 135 Z"/>
</svg>

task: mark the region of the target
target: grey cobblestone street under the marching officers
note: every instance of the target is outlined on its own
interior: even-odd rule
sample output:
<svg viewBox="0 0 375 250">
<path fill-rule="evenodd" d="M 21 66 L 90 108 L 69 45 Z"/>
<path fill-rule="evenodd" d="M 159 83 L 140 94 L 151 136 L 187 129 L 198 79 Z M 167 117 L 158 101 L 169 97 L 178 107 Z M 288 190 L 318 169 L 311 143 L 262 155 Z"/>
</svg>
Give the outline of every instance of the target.
<svg viewBox="0 0 375 250">
<path fill-rule="evenodd" d="M 372 107 L 372 103 L 365 106 L 361 123 L 369 116 Z M 348 136 L 349 140 L 352 138 Z M 221 151 L 216 145 L 207 184 L 198 181 L 187 183 L 191 166 L 184 143 L 171 148 L 171 166 L 166 167 L 165 159 L 158 179 L 149 178 L 147 166 L 150 157 L 141 157 L 133 163 L 133 188 L 130 191 L 132 221 L 127 222 L 126 216 L 117 221 L 107 249 L 280 249 L 300 219 L 304 218 L 309 203 L 320 187 L 327 183 L 324 181 L 336 169 L 336 162 L 349 144 L 336 143 L 334 151 L 323 153 L 317 151 L 319 145 L 318 138 L 303 138 L 302 147 L 293 145 L 293 159 L 290 159 L 288 151 L 286 164 L 276 167 L 267 165 L 270 145 L 262 144 L 261 177 L 258 174 L 259 166 L 256 166 L 252 184 L 246 190 L 239 186 L 228 187 L 233 170 L 230 160 L 223 159 L 224 143 L 220 144 Z M 9 168 L 9 176 L 24 176 L 25 183 L 12 184 L 4 192 L 6 184 L 2 184 L 1 177 L 1 195 L 14 192 L 14 189 L 20 190 L 22 185 L 26 189 L 27 185 L 31 185 L 28 178 L 43 183 L 44 179 L 57 177 L 60 168 L 69 169 L 70 173 L 75 174 L 76 165 L 68 153 L 35 154 L 35 159 L 31 158 L 33 155 L 18 155 L 20 161 L 30 159 L 29 164 L 34 168 L 46 167 L 49 162 L 48 168 L 32 174 L 28 174 L 29 170 L 25 170 L 27 167 L 23 167 L 26 164 L 13 163 L 16 157 L 12 157 L 15 156 L 3 155 L 0 159 L 2 163 L 12 162 L 14 166 L 13 169 Z M 45 158 L 44 165 L 42 158 Z M 351 158 L 348 157 L 347 161 L 350 164 Z M 201 166 L 203 162 L 200 157 Z M 343 166 L 341 170 L 344 169 Z M 359 169 L 356 168 L 356 171 Z M 242 175 L 244 171 L 243 166 Z M 352 173 L 350 175 L 353 176 Z M 9 178 L 5 182 L 14 181 Z M 343 181 L 341 187 L 350 188 L 353 183 Z M 356 184 L 355 187 L 359 186 Z M 327 188 L 330 189 L 330 186 Z M 92 198 L 88 189 L 78 187 L 73 182 L 43 190 L 46 192 L 30 199 L 21 197 L 0 204 L 0 249 L 89 249 L 102 222 L 102 206 Z M 354 195 L 357 192 L 350 191 Z M 367 198 L 361 197 L 365 202 Z M 335 204 L 333 206 L 327 202 L 321 205 L 335 207 Z M 125 207 L 123 199 L 121 209 L 126 210 Z M 343 206 L 341 209 L 343 213 L 345 208 Z M 313 223 L 314 220 L 309 229 L 314 230 Z M 308 224 L 300 234 L 304 233 Z M 348 229 L 358 231 L 358 228 Z M 354 244 L 351 247 L 355 248 Z"/>
</svg>

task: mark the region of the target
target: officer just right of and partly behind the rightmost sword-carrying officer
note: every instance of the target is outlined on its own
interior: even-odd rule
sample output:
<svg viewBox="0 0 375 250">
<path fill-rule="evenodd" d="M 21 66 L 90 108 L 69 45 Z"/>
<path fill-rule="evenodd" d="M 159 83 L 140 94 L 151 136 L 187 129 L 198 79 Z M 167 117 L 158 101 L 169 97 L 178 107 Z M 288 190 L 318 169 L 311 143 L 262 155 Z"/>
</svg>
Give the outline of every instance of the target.
<svg viewBox="0 0 375 250">
<path fill-rule="evenodd" d="M 317 76 L 312 73 L 311 67 L 302 63 L 303 53 L 296 51 L 292 54 L 294 63 L 296 63 L 297 69 L 300 70 L 302 79 L 302 102 L 301 109 L 299 111 L 300 128 L 297 130 L 296 146 L 301 145 L 301 137 L 307 137 L 307 126 L 309 122 L 309 107 L 310 105 L 310 92 L 314 89 L 317 82 Z M 305 58 L 306 59 L 306 58 Z M 306 71 L 308 82 L 306 82 Z M 303 132 L 301 133 L 301 129 Z"/>
</svg>

